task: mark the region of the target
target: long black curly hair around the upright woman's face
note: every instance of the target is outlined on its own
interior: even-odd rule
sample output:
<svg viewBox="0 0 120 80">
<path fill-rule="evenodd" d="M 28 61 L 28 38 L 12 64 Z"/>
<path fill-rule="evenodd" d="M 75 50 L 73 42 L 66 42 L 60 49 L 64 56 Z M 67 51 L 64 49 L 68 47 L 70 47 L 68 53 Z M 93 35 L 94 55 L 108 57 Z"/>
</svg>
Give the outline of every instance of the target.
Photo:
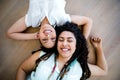
<svg viewBox="0 0 120 80">
<path fill-rule="evenodd" d="M 75 50 L 73 56 L 70 58 L 70 60 L 62 68 L 60 75 L 58 76 L 59 80 L 61 80 L 63 78 L 64 73 L 67 72 L 69 65 L 76 59 L 80 63 L 82 70 L 83 70 L 82 77 L 80 80 L 86 80 L 87 78 L 90 77 L 91 72 L 90 72 L 90 70 L 88 68 L 88 64 L 87 64 L 87 58 L 88 58 L 87 43 L 86 43 L 86 39 L 83 36 L 82 32 L 80 31 L 80 29 L 78 28 L 78 26 L 76 24 L 69 23 L 69 22 L 66 22 L 62 26 L 56 26 L 55 30 L 56 30 L 56 35 L 57 35 L 56 44 L 55 44 L 56 56 L 58 56 L 57 42 L 58 42 L 58 37 L 61 34 L 61 32 L 70 31 L 74 34 L 74 36 L 76 38 L 76 50 Z"/>
</svg>

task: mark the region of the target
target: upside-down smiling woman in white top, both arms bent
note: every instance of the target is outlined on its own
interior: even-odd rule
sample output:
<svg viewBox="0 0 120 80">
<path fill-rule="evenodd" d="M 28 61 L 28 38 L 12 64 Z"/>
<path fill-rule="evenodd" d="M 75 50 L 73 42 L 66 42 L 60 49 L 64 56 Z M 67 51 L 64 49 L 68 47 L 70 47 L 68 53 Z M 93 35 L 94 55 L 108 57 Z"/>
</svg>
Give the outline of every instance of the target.
<svg viewBox="0 0 120 80">
<path fill-rule="evenodd" d="M 91 31 L 92 20 L 85 16 L 67 14 L 65 5 L 65 0 L 29 0 L 27 14 L 9 28 L 8 37 L 16 40 L 40 39 L 43 47 L 52 48 L 56 38 L 52 26 L 63 25 L 68 21 L 84 25 L 83 34 L 87 38 Z M 38 37 L 38 32 L 22 33 L 28 27 L 40 27 L 40 36 Z M 46 31 L 44 28 L 49 30 Z"/>
</svg>

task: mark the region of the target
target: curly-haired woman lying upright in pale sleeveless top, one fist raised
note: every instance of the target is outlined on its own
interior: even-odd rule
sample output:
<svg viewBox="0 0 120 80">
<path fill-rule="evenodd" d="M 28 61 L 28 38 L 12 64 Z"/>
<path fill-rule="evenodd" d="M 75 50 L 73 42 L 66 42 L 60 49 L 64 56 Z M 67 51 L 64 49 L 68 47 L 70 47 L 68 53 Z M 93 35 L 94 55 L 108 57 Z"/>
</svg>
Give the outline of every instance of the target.
<svg viewBox="0 0 120 80">
<path fill-rule="evenodd" d="M 91 75 L 105 75 L 107 65 L 100 38 L 91 38 L 97 53 L 96 65 L 88 64 L 86 39 L 76 24 L 56 26 L 55 52 L 38 51 L 20 66 L 16 80 L 86 80 Z"/>
</svg>

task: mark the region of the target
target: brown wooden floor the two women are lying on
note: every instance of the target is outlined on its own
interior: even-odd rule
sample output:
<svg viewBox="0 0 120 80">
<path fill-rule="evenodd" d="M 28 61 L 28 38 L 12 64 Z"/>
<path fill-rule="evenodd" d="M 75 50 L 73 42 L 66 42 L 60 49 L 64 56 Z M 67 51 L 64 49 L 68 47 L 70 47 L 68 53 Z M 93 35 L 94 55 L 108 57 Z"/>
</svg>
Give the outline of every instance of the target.
<svg viewBox="0 0 120 80">
<path fill-rule="evenodd" d="M 20 63 L 40 46 L 37 40 L 17 41 L 6 37 L 8 28 L 25 15 L 27 8 L 28 0 L 0 0 L 0 80 L 15 80 Z M 67 0 L 66 11 L 91 17 L 94 24 L 90 35 L 103 39 L 109 73 L 90 80 L 119 80 L 120 0 Z"/>
</svg>

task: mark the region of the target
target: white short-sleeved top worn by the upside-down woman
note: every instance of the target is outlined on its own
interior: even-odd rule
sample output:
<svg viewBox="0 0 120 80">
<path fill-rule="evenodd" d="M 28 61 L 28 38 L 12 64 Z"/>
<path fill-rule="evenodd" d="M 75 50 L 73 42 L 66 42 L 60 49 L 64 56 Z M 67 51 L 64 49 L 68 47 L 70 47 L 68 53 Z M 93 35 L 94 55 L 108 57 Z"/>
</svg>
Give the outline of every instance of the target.
<svg viewBox="0 0 120 80">
<path fill-rule="evenodd" d="M 26 26 L 38 27 L 47 17 L 51 25 L 63 25 L 71 22 L 70 15 L 65 12 L 65 0 L 29 0 L 29 9 L 25 16 Z"/>
</svg>

